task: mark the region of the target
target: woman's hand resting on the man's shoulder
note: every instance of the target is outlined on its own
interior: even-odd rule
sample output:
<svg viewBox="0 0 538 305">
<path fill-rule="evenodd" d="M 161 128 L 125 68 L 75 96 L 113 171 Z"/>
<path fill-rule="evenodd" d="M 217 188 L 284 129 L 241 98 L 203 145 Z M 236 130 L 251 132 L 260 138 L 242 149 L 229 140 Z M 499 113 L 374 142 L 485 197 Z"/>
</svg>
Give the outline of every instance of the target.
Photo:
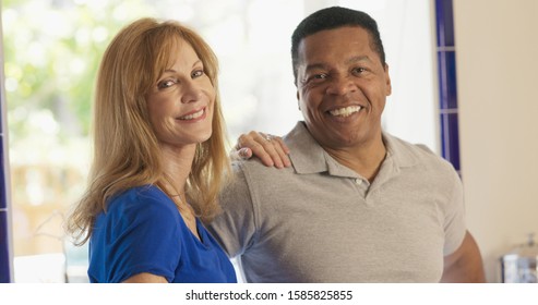
<svg viewBox="0 0 538 305">
<path fill-rule="evenodd" d="M 289 148 L 279 136 L 251 131 L 239 136 L 231 157 L 250 159 L 256 156 L 263 164 L 282 169 L 291 166 L 288 154 Z"/>
</svg>

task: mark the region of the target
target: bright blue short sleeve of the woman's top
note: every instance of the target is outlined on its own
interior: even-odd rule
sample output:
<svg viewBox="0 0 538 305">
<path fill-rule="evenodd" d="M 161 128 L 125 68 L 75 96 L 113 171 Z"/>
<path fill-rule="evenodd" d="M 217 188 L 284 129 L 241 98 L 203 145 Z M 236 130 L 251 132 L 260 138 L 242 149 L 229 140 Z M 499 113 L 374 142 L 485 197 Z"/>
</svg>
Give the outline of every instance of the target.
<svg viewBox="0 0 538 305">
<path fill-rule="evenodd" d="M 107 264 L 109 281 L 141 272 L 175 277 L 181 254 L 180 213 L 156 188 L 134 188 L 109 207 Z"/>
</svg>

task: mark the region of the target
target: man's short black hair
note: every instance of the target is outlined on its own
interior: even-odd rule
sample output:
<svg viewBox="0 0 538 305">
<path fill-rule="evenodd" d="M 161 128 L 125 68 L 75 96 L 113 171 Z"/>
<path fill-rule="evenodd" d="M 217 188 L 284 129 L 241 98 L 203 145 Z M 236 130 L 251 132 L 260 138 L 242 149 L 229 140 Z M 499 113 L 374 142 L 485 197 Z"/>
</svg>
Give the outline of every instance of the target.
<svg viewBox="0 0 538 305">
<path fill-rule="evenodd" d="M 370 34 L 371 48 L 385 65 L 385 51 L 378 29 L 378 23 L 369 14 L 342 7 L 332 7 L 319 10 L 299 23 L 291 35 L 291 64 L 297 84 L 297 65 L 299 61 L 299 44 L 304 37 L 324 29 L 334 29 L 343 26 L 360 26 Z"/>
</svg>

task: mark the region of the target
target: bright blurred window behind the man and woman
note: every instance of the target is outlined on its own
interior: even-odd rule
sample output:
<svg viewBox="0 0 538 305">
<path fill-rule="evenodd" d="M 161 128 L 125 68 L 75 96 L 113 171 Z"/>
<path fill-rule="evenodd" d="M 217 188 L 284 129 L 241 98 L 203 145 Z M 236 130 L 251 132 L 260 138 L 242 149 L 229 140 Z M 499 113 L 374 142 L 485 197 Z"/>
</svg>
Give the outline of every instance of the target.
<svg viewBox="0 0 538 305">
<path fill-rule="evenodd" d="M 231 144 L 251 130 L 284 135 L 300 120 L 290 35 L 334 4 L 378 20 L 393 84 L 384 127 L 438 150 L 430 1 L 405 0 L 3 0 L 3 47 L 13 199 L 15 280 L 87 281 L 87 248 L 62 221 L 84 191 L 92 90 L 107 44 L 142 16 L 183 22 L 220 62 Z"/>
</svg>

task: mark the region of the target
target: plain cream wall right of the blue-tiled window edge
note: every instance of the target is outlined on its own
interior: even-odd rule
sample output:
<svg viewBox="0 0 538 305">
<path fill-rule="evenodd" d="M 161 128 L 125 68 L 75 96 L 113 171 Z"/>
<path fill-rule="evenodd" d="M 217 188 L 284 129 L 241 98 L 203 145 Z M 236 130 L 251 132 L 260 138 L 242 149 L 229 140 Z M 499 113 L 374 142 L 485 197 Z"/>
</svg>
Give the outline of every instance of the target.
<svg viewBox="0 0 538 305">
<path fill-rule="evenodd" d="M 454 0 L 462 175 L 491 282 L 538 233 L 538 1 Z"/>
</svg>

